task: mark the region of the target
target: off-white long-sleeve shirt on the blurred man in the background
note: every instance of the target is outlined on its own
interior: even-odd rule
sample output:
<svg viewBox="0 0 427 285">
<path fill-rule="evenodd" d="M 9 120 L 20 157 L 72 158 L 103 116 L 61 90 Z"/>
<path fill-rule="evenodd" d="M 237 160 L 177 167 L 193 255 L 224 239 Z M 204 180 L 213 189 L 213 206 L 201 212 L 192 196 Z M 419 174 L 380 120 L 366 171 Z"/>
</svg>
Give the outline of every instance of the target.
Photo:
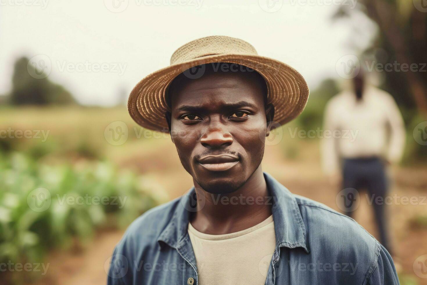
<svg viewBox="0 0 427 285">
<path fill-rule="evenodd" d="M 393 97 L 374 86 L 366 86 L 362 100 L 343 91 L 329 100 L 324 131 L 340 135 L 322 140 L 322 168 L 326 174 L 339 173 L 340 158 L 382 156 L 390 162 L 401 159 L 405 130 Z M 349 135 L 352 134 L 352 135 Z"/>
</svg>

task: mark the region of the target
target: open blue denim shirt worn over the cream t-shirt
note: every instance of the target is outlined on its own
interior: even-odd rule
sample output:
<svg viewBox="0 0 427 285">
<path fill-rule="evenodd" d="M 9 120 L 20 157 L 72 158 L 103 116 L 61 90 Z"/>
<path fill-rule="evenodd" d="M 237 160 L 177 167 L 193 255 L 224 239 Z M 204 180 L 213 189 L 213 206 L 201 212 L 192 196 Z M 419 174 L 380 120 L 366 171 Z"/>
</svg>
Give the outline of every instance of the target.
<svg viewBox="0 0 427 285">
<path fill-rule="evenodd" d="M 290 193 L 268 173 L 264 177 L 276 235 L 266 285 L 399 284 L 387 250 L 353 219 Z M 114 249 L 109 285 L 198 284 L 187 232 L 190 195 L 149 210 L 129 226 Z"/>
</svg>

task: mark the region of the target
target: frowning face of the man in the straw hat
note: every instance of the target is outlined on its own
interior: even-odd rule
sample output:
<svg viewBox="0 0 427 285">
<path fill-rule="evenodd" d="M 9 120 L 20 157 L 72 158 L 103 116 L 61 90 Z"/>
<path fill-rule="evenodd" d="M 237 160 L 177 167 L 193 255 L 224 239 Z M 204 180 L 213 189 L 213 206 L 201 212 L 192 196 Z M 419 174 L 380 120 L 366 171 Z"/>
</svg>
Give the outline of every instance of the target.
<svg viewBox="0 0 427 285">
<path fill-rule="evenodd" d="M 210 73 L 173 91 L 172 140 L 185 170 L 210 193 L 236 191 L 263 158 L 269 127 L 253 75 Z"/>
</svg>

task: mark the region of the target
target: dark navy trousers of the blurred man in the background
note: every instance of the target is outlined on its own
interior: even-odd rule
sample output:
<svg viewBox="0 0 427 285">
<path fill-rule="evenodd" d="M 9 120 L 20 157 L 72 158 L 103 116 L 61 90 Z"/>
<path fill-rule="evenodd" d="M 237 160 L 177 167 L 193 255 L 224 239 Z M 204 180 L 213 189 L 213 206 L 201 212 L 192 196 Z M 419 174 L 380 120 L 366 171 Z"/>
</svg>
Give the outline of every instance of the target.
<svg viewBox="0 0 427 285">
<path fill-rule="evenodd" d="M 344 159 L 342 165 L 342 188 L 346 189 L 347 193 L 349 193 L 347 197 L 359 197 L 359 199 L 360 196 L 358 195 L 358 191 L 361 189 L 367 190 L 369 196 L 368 201 L 372 201 L 372 206 L 374 208 L 380 243 L 391 253 L 392 248 L 389 244 L 386 225 L 386 203 L 384 201 L 388 192 L 388 179 L 382 159 L 378 157 Z M 382 199 L 378 199 L 377 197 L 381 197 Z M 344 202 L 346 206 L 354 204 L 354 201 Z M 356 205 L 358 205 L 358 203 L 356 203 Z M 349 217 L 353 217 L 353 209 L 347 211 L 346 214 Z"/>
</svg>

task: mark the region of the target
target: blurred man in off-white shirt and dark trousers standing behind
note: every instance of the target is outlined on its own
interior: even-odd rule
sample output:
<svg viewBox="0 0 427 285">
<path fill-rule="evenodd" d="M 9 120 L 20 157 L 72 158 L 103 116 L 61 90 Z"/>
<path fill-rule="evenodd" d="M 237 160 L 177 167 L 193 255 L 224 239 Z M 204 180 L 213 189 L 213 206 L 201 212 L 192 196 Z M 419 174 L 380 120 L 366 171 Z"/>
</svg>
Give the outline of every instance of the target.
<svg viewBox="0 0 427 285">
<path fill-rule="evenodd" d="M 339 206 L 348 216 L 354 217 L 358 190 L 368 191 L 380 242 L 393 255 L 383 199 L 388 192 L 386 166 L 399 162 L 404 150 L 404 122 L 393 97 L 367 84 L 361 71 L 352 87 L 326 106 L 324 130 L 332 135 L 322 141 L 322 167 L 330 182 L 344 189 Z"/>
</svg>

